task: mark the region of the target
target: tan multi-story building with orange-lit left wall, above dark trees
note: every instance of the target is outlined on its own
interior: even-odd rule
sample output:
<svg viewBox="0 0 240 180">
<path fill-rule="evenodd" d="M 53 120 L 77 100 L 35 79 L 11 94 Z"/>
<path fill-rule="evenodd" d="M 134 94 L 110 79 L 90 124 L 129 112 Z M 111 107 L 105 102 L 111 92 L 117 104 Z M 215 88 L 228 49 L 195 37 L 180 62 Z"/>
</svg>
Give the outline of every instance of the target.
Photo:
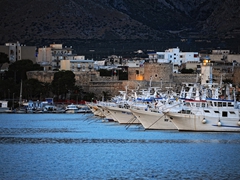
<svg viewBox="0 0 240 180">
<path fill-rule="evenodd" d="M 62 44 L 50 44 L 50 47 L 38 48 L 37 63 L 48 67 L 48 70 L 60 69 L 60 61 L 73 59 L 72 47 Z"/>
</svg>

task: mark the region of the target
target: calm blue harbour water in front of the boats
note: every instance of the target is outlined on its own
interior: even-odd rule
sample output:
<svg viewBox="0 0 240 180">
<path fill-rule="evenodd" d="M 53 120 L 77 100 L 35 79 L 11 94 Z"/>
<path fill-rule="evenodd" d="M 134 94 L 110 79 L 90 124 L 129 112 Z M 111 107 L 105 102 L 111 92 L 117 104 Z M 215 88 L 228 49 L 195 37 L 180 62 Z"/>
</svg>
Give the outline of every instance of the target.
<svg viewBox="0 0 240 180">
<path fill-rule="evenodd" d="M 0 114 L 0 179 L 239 179 L 240 133 L 144 131 L 92 114 Z"/>
</svg>

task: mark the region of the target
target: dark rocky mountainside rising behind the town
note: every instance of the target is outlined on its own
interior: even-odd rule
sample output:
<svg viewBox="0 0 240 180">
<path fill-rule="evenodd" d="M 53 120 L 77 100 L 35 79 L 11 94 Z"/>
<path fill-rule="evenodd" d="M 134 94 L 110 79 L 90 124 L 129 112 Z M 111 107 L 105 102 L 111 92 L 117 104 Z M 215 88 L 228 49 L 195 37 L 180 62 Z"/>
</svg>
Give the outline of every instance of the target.
<svg viewBox="0 0 240 180">
<path fill-rule="evenodd" d="M 0 43 L 236 39 L 239 0 L 1 0 Z"/>
</svg>

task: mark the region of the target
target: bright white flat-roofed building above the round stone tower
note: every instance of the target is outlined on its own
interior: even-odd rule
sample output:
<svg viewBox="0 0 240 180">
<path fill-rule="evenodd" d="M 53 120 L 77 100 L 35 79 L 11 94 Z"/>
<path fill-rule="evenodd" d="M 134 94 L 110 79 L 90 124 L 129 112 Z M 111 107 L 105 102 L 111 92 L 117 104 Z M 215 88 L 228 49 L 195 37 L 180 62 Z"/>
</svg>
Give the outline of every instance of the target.
<svg viewBox="0 0 240 180">
<path fill-rule="evenodd" d="M 182 64 L 200 62 L 198 52 L 181 52 L 178 47 L 165 50 L 165 52 L 150 53 L 149 60 L 158 63 L 172 63 L 174 73 L 178 73 L 178 69 Z"/>
</svg>

